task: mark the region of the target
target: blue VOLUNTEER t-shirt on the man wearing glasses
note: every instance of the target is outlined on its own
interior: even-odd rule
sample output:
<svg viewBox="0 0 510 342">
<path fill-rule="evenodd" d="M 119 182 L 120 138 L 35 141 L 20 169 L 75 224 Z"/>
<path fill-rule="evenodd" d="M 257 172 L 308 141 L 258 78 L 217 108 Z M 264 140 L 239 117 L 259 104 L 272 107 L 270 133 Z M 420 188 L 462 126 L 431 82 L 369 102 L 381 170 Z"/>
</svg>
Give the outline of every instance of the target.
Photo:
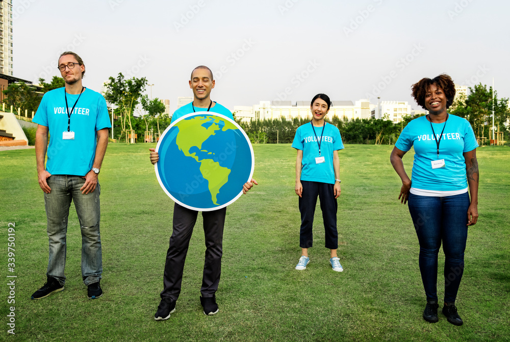
<svg viewBox="0 0 510 342">
<path fill-rule="evenodd" d="M 32 122 L 48 127 L 49 145 L 46 171 L 52 175 L 85 176 L 94 163 L 96 131 L 111 128 L 105 97 L 86 88 L 71 113 L 70 130 L 74 140 L 63 140 L 67 131 L 65 88 L 50 90 L 42 97 Z M 71 112 L 79 94 L 66 94 Z"/>
</svg>

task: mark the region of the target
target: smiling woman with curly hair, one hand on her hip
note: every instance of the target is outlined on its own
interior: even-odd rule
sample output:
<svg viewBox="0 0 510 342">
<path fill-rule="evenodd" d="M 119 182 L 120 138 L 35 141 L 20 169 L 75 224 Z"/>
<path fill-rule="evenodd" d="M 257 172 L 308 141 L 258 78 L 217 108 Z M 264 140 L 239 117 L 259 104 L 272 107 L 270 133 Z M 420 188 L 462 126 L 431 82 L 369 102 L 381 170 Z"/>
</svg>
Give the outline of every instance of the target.
<svg viewBox="0 0 510 342">
<path fill-rule="evenodd" d="M 412 120 L 400 134 L 390 161 L 402 180 L 398 199 L 409 202 L 409 212 L 420 243 L 419 267 L 427 304 L 423 318 L 438 322 L 438 253 L 445 254 L 443 314 L 462 325 L 455 298 L 464 271 L 468 227 L 478 219 L 478 143 L 469 122 L 448 113 L 455 86 L 439 75 L 412 86 L 413 96 L 429 114 Z M 402 163 L 414 146 L 411 179 Z M 468 192 L 469 189 L 469 192 Z M 470 197 L 471 195 L 471 197 Z"/>
</svg>

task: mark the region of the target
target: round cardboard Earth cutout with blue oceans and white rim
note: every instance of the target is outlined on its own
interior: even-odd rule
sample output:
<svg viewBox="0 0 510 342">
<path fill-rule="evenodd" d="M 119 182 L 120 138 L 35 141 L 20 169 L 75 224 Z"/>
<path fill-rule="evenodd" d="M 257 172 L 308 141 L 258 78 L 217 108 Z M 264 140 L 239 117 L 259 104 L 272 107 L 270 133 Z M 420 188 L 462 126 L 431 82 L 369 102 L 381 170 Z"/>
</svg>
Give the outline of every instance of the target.
<svg viewBox="0 0 510 342">
<path fill-rule="evenodd" d="M 186 114 L 163 132 L 156 176 L 183 207 L 217 210 L 234 203 L 251 180 L 253 148 L 234 120 L 214 112 Z"/>
</svg>

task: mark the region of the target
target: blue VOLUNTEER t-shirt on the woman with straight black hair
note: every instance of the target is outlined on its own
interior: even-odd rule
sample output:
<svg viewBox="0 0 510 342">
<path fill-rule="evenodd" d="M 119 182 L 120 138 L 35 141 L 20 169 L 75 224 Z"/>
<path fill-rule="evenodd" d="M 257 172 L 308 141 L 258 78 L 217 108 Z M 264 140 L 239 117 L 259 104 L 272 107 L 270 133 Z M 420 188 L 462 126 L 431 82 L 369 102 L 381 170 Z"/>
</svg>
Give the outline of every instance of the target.
<svg viewBox="0 0 510 342">
<path fill-rule="evenodd" d="M 296 150 L 303 151 L 301 169 L 302 181 L 335 184 L 333 153 L 334 151 L 342 150 L 344 144 L 342 143 L 338 128 L 328 123 L 325 125 L 322 140 L 322 127 L 314 127 L 314 133 L 312 123 L 302 125 L 296 130 L 292 147 Z M 320 164 L 315 162 L 315 158 L 319 157 L 319 144 L 317 139 L 321 140 L 320 152 L 325 160 L 324 163 Z"/>
</svg>

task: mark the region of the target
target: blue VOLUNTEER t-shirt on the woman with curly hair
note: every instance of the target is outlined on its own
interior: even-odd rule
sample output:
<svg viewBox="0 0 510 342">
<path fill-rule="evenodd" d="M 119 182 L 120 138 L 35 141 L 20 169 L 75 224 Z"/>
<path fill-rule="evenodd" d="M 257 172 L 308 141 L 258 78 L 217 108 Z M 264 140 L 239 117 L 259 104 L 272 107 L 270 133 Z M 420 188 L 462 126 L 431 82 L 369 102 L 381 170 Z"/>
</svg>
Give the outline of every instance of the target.
<svg viewBox="0 0 510 342">
<path fill-rule="evenodd" d="M 395 143 L 395 147 L 404 152 L 414 146 L 412 187 L 437 191 L 467 188 L 463 153 L 478 147 L 471 125 L 468 120 L 449 114 L 446 123 L 432 123 L 432 127 L 438 140 L 444 127 L 439 144 L 439 159 L 445 160 L 445 167 L 432 169 L 431 161 L 438 160 L 437 144 L 426 116 L 420 116 L 407 124 Z"/>
</svg>

